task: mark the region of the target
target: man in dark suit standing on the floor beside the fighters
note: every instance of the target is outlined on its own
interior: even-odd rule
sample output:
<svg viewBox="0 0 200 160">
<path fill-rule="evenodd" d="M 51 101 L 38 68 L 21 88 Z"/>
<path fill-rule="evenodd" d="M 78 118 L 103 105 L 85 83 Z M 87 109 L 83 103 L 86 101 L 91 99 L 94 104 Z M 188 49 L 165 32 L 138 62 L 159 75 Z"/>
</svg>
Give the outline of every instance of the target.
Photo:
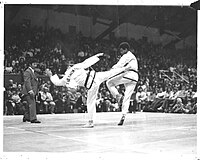
<svg viewBox="0 0 200 160">
<path fill-rule="evenodd" d="M 24 100 L 27 102 L 25 107 L 23 122 L 41 123 L 37 120 L 36 116 L 36 95 L 38 93 L 38 78 L 35 75 L 37 67 L 37 59 L 30 59 L 30 66 L 24 71 L 23 78 L 24 84 L 22 94 Z"/>
</svg>

